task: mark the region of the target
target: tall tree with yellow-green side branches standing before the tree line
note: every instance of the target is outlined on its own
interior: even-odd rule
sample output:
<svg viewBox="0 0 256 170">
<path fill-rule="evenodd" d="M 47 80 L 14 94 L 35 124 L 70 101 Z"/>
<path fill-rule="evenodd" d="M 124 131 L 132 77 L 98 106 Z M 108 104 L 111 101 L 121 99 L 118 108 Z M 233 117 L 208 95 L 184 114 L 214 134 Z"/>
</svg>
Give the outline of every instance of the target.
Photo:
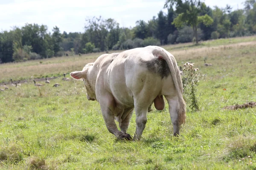
<svg viewBox="0 0 256 170">
<path fill-rule="evenodd" d="M 204 23 L 209 26 L 213 20 L 209 15 L 199 16 L 201 12 L 200 0 L 166 0 L 165 7 L 175 6 L 176 12 L 179 14 L 173 21 L 176 27 L 182 27 L 184 24 L 192 26 L 196 44 L 198 44 L 198 24 Z"/>
</svg>

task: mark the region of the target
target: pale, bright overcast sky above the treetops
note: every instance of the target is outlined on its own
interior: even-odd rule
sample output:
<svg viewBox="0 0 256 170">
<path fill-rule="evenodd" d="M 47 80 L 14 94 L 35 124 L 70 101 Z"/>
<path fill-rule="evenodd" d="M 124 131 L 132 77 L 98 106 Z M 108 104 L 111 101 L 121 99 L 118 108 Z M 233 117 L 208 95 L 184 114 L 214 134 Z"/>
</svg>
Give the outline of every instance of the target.
<svg viewBox="0 0 256 170">
<path fill-rule="evenodd" d="M 137 20 L 150 20 L 166 0 L 0 0 L 0 31 L 37 23 L 61 32 L 84 32 L 87 17 L 113 18 L 121 27 L 134 27 Z M 245 0 L 205 0 L 207 6 L 243 8 Z"/>
</svg>

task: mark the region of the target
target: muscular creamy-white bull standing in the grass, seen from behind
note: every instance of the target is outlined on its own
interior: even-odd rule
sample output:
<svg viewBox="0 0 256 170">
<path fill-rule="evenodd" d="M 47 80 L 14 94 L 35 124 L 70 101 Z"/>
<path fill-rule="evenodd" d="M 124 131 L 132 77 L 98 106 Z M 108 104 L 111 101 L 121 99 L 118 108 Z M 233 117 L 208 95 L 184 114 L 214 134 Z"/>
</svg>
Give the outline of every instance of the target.
<svg viewBox="0 0 256 170">
<path fill-rule="evenodd" d="M 165 96 L 169 104 L 174 136 L 185 123 L 183 85 L 177 62 L 172 54 L 157 46 L 134 48 L 121 53 L 103 54 L 82 71 L 70 76 L 84 79 L 87 99 L 99 102 L 109 132 L 118 139 L 131 140 L 126 133 L 135 108 L 136 132 L 140 139 L 147 122 L 148 106 L 154 101 L 163 110 Z M 119 122 L 119 131 L 114 121 Z"/>
</svg>

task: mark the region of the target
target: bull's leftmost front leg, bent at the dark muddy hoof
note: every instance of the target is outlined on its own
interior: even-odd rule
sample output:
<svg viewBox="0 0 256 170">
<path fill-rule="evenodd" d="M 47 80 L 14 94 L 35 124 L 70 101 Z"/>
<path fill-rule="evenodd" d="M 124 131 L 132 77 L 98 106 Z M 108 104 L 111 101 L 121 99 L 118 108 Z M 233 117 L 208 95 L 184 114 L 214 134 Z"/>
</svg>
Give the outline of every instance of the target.
<svg viewBox="0 0 256 170">
<path fill-rule="evenodd" d="M 114 120 L 114 99 L 111 94 L 106 94 L 104 96 L 101 96 L 100 100 L 100 107 L 102 110 L 102 115 L 106 124 L 106 127 L 108 128 L 108 131 L 112 134 L 114 134 L 117 139 L 126 139 L 131 140 L 131 136 L 128 133 L 123 133 L 119 131 L 116 127 L 116 123 Z"/>
</svg>

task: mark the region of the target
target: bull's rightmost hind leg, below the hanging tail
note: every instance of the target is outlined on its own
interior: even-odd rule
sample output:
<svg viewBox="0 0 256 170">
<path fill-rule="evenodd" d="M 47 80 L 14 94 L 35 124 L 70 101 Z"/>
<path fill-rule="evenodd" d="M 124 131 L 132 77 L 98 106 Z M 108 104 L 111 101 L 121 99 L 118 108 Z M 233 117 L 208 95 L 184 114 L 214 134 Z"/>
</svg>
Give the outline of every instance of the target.
<svg viewBox="0 0 256 170">
<path fill-rule="evenodd" d="M 180 135 L 180 127 L 178 122 L 178 110 L 179 110 L 179 99 L 177 96 L 165 96 L 166 100 L 169 104 L 169 112 L 172 120 L 173 126 L 173 135 L 179 136 Z"/>
</svg>

